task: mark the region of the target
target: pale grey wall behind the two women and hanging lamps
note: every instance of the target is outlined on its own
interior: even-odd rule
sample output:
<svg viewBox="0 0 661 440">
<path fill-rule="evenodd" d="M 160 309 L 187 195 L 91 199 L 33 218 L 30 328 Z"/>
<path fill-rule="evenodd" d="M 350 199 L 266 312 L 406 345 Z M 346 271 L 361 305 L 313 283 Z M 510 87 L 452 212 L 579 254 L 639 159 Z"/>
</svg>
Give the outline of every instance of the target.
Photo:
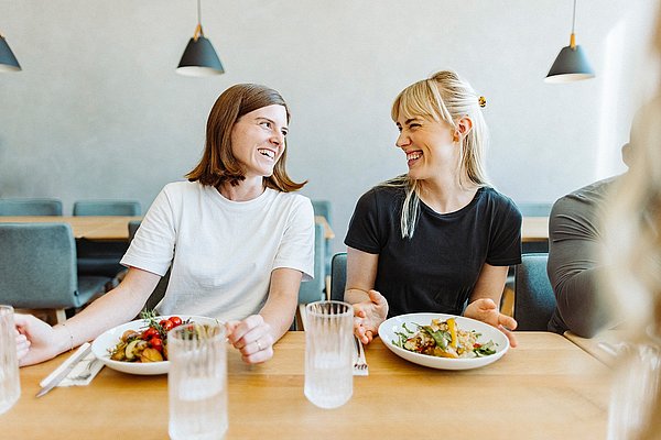
<svg viewBox="0 0 661 440">
<path fill-rule="evenodd" d="M 0 0 L 23 67 L 0 76 L 0 197 L 151 204 L 198 160 L 213 102 L 236 82 L 277 88 L 293 112 L 291 175 L 333 202 L 335 250 L 354 204 L 405 172 L 390 103 L 452 68 L 487 97 L 488 169 L 518 202 L 553 201 L 621 172 L 619 147 L 651 95 L 654 0 L 578 2 L 597 78 L 542 81 L 568 44 L 572 0 L 203 1 L 227 73 L 174 73 L 195 1 Z"/>
</svg>

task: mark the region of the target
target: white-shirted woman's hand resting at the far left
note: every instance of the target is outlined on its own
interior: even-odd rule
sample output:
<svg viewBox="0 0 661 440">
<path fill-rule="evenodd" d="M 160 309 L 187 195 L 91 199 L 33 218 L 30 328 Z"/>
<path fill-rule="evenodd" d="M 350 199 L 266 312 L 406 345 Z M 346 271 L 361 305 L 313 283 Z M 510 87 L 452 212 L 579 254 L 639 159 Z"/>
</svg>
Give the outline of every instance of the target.
<svg viewBox="0 0 661 440">
<path fill-rule="evenodd" d="M 20 366 L 37 364 L 59 354 L 55 343 L 56 331 L 46 322 L 32 315 L 15 314 L 14 324 Z"/>
</svg>

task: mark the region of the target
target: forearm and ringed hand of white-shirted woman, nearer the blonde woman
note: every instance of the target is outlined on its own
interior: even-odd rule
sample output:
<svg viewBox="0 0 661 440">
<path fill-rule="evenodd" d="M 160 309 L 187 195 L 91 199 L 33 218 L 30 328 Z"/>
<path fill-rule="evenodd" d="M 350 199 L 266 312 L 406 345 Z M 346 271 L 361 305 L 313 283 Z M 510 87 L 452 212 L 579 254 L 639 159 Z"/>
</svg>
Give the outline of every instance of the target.
<svg viewBox="0 0 661 440">
<path fill-rule="evenodd" d="M 269 297 L 259 315 L 228 322 L 228 339 L 245 362 L 254 364 L 273 356 L 273 343 L 289 330 L 299 304 L 303 274 L 280 267 L 271 273 Z"/>
</svg>

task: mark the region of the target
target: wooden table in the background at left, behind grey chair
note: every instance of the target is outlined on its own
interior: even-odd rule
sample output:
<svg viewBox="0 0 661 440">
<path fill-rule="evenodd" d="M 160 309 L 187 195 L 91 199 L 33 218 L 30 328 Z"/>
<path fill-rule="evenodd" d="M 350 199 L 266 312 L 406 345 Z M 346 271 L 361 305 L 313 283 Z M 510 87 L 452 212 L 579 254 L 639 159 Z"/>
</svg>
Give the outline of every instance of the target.
<svg viewBox="0 0 661 440">
<path fill-rule="evenodd" d="M 121 216 L 0 216 L 2 223 L 68 223 L 74 238 L 87 240 L 129 240 L 129 221 L 142 217 Z"/>
</svg>

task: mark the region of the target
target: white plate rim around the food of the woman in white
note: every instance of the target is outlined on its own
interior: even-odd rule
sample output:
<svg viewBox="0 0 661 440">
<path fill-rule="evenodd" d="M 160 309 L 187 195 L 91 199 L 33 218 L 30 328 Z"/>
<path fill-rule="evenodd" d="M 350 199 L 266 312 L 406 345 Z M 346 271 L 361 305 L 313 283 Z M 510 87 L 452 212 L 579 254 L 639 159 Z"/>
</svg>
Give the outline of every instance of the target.
<svg viewBox="0 0 661 440">
<path fill-rule="evenodd" d="M 214 324 L 218 322 L 214 318 L 206 317 L 197 317 L 197 316 L 183 316 L 177 315 L 182 320 L 191 319 L 192 322 L 196 323 L 206 323 Z M 160 319 L 169 318 L 170 316 L 159 317 Z M 130 374 L 143 374 L 143 375 L 152 375 L 152 374 L 166 374 L 167 370 L 170 370 L 170 361 L 163 362 L 120 362 L 113 361 L 110 359 L 109 349 L 112 349 L 115 345 L 119 343 L 119 340 L 124 331 L 127 330 L 137 330 L 141 331 L 148 327 L 147 321 L 144 319 L 139 319 L 137 321 L 131 321 L 127 323 L 122 323 L 121 326 L 117 326 L 113 329 L 101 333 L 97 339 L 91 343 L 91 352 L 97 359 L 99 359 L 104 364 L 109 366 L 112 370 L 117 370 L 123 373 Z"/>
</svg>

